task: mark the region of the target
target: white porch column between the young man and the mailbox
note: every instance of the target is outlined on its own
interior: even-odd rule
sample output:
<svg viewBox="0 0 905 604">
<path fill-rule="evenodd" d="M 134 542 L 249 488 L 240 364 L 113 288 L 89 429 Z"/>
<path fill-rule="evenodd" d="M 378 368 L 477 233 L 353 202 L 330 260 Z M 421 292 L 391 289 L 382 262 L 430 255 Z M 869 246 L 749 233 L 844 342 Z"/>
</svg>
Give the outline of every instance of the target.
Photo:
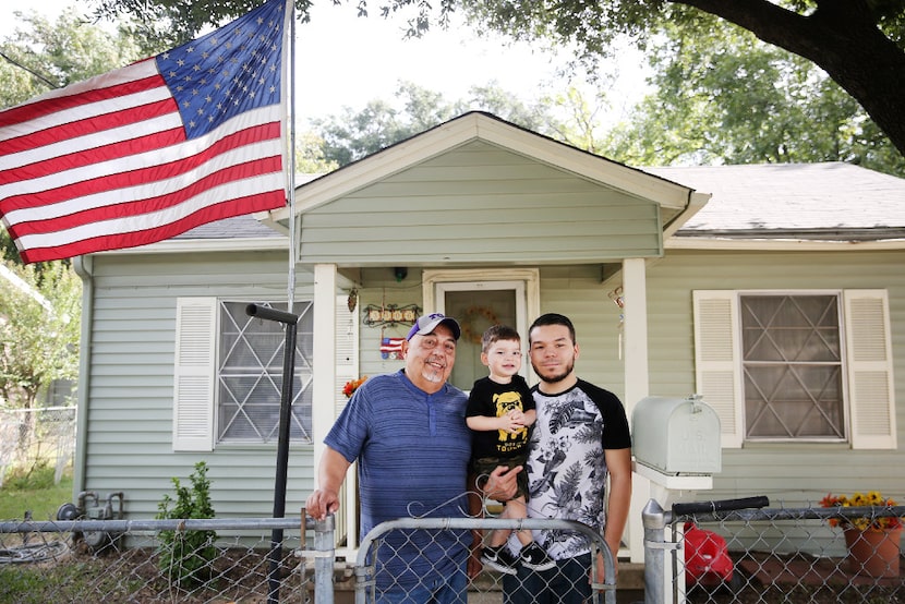
<svg viewBox="0 0 905 604">
<path fill-rule="evenodd" d="M 650 394 L 648 373 L 648 286 L 643 258 L 623 261 L 623 295 L 625 324 L 623 347 L 625 358 L 625 406 L 629 421 L 636 403 Z M 650 482 L 632 476 L 631 507 L 628 517 L 628 547 L 632 563 L 644 561 L 644 528 L 641 510 L 650 498 Z"/>
</svg>

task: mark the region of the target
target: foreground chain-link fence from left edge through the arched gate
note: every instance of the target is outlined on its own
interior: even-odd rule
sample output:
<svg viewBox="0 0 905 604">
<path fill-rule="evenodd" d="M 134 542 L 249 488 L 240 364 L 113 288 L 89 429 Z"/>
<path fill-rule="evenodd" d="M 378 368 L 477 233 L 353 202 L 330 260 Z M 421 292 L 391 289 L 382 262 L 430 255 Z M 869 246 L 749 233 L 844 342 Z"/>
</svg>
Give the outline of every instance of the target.
<svg viewBox="0 0 905 604">
<path fill-rule="evenodd" d="M 2 522 L 0 602 L 369 603 L 383 601 L 389 588 L 399 602 L 422 603 L 427 600 L 421 590 L 437 587 L 427 585 L 429 580 L 449 583 L 447 565 L 464 568 L 472 531 L 546 528 L 583 535 L 593 552 L 604 545 L 579 522 L 409 518 L 376 527 L 362 542 L 358 558 L 346 560 L 337 557 L 333 521 L 307 519 L 305 527 L 299 519 Z M 265 536 L 267 530 L 281 531 L 282 541 L 275 544 Z M 164 531 L 210 531 L 212 533 L 205 545 L 192 551 L 166 551 Z M 446 544 L 448 554 L 420 559 L 419 552 L 432 543 Z M 396 582 L 386 569 L 400 555 L 419 572 Z M 604 560 L 610 580 L 596 576 L 596 565 L 584 566 L 578 575 L 587 589 L 596 590 L 589 602 L 615 604 L 613 559 L 605 555 Z M 439 576 L 432 569 L 439 569 Z M 511 575 L 506 579 L 520 580 Z M 535 579 L 557 577 L 551 570 L 538 572 Z M 471 582 L 463 577 L 468 590 L 462 602 L 503 602 L 503 582 L 499 572 L 488 569 Z"/>
</svg>

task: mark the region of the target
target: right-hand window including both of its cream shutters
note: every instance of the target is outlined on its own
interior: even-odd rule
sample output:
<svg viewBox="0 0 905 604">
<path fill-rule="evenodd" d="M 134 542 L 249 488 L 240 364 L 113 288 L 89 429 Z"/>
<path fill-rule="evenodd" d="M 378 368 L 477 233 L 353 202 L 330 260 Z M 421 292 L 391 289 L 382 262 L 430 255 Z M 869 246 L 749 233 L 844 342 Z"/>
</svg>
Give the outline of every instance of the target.
<svg viewBox="0 0 905 604">
<path fill-rule="evenodd" d="M 693 302 L 697 388 L 724 447 L 895 447 L 885 291 L 696 291 Z"/>
</svg>

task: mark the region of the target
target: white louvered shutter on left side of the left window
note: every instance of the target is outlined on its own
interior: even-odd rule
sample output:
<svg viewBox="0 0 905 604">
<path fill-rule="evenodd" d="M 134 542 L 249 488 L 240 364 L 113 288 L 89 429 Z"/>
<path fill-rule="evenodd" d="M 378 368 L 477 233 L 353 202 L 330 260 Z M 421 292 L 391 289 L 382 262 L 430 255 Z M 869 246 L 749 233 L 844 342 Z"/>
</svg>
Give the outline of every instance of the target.
<svg viewBox="0 0 905 604">
<path fill-rule="evenodd" d="M 173 450 L 214 449 L 216 298 L 176 302 L 173 369 Z"/>
</svg>

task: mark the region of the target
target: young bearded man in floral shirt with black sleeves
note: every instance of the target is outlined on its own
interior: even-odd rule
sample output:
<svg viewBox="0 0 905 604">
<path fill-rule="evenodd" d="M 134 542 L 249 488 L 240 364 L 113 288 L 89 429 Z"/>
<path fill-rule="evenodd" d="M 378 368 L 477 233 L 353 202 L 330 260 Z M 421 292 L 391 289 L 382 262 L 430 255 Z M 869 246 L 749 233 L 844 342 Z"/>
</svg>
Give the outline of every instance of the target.
<svg viewBox="0 0 905 604">
<path fill-rule="evenodd" d="M 529 330 L 529 354 L 541 382 L 533 389 L 538 421 L 528 457 L 530 517 L 578 520 L 602 531 L 615 558 L 631 498 L 631 437 L 625 408 L 612 392 L 575 373 L 579 347 L 568 317 L 548 313 Z M 517 470 L 517 469 L 516 469 Z M 515 493 L 516 470 L 492 476 L 485 492 Z M 608 507 L 604 509 L 610 478 Z M 511 540 L 510 540 L 511 541 Z M 534 531 L 556 560 L 545 572 L 519 568 L 503 579 L 507 603 L 581 603 L 591 597 L 587 539 Z M 603 556 L 594 560 L 603 579 Z"/>
</svg>

